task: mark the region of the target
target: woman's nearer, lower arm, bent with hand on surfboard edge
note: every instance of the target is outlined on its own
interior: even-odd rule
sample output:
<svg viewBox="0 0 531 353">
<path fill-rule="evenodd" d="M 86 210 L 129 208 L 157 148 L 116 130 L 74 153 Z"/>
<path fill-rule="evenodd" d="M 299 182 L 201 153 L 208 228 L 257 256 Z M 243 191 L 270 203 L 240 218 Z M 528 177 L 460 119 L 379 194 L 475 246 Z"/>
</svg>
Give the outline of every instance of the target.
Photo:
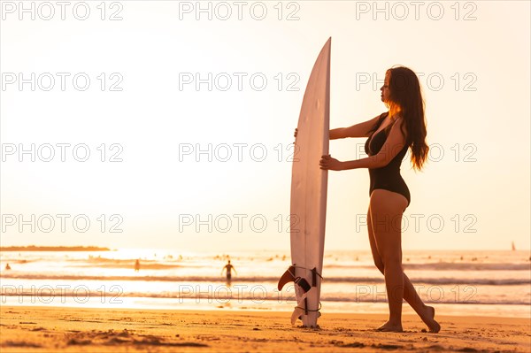
<svg viewBox="0 0 531 353">
<path fill-rule="evenodd" d="M 402 120 L 402 119 L 400 119 Z M 368 168 L 375 169 L 389 165 L 389 162 L 404 149 L 405 137 L 400 129 L 402 121 L 396 121 L 389 131 L 387 140 L 381 146 L 380 152 L 374 156 L 351 160 L 347 162 L 338 161 L 330 155 L 322 156 L 319 161 L 320 169 L 332 171 L 346 171 L 350 169 Z"/>
</svg>

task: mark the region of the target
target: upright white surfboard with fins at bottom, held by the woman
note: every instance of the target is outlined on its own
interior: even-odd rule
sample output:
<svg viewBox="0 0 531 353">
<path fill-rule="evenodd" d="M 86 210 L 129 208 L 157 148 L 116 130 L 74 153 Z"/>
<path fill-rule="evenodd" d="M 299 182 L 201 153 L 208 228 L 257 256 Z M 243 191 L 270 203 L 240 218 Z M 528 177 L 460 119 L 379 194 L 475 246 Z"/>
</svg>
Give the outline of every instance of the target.
<svg viewBox="0 0 531 353">
<path fill-rule="evenodd" d="M 317 326 L 320 284 L 325 249 L 327 171 L 319 159 L 328 154 L 330 117 L 329 38 L 313 65 L 297 125 L 296 150 L 291 174 L 291 265 L 279 281 L 281 288 L 295 282 L 297 306 L 291 322 Z"/>
</svg>

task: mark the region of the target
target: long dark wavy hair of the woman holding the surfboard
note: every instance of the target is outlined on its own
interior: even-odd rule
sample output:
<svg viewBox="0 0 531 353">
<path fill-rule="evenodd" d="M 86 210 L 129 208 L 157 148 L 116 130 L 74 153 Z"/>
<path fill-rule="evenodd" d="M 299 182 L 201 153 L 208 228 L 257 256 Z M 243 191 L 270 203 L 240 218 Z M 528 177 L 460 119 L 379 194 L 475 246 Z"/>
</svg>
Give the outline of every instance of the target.
<svg viewBox="0 0 531 353">
<path fill-rule="evenodd" d="M 412 166 L 421 170 L 426 162 L 429 147 L 426 144 L 426 119 L 424 116 L 424 99 L 420 89 L 419 78 L 411 69 L 396 66 L 389 72 L 389 114 L 399 113 L 404 118 L 402 132 L 406 136 L 406 145 L 412 150 Z"/>
</svg>

